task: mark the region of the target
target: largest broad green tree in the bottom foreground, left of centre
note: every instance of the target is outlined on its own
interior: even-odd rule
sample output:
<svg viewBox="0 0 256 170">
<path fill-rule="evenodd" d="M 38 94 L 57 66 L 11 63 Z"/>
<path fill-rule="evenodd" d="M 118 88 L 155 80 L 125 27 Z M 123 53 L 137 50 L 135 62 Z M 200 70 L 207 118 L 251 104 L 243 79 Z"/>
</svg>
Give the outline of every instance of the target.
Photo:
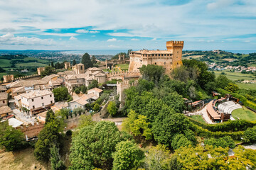
<svg viewBox="0 0 256 170">
<path fill-rule="evenodd" d="M 112 169 L 112 154 L 120 140 L 120 132 L 112 122 L 100 121 L 81 128 L 72 139 L 70 169 Z"/>
</svg>

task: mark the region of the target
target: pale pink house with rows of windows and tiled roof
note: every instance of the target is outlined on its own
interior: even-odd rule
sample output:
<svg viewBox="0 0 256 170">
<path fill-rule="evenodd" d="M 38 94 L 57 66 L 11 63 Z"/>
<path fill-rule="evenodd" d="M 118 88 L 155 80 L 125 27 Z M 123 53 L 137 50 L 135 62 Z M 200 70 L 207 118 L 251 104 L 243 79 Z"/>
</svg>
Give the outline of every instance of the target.
<svg viewBox="0 0 256 170">
<path fill-rule="evenodd" d="M 28 109 L 31 116 L 46 111 L 54 103 L 53 92 L 48 90 L 31 91 L 28 94 L 21 94 L 21 107 Z"/>
</svg>

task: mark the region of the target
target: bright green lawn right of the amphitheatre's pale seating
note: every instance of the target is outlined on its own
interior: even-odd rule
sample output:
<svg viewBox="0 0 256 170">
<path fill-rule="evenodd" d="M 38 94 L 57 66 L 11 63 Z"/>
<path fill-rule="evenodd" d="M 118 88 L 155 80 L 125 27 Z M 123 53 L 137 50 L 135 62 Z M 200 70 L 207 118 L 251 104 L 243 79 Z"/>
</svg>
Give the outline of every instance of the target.
<svg viewBox="0 0 256 170">
<path fill-rule="evenodd" d="M 233 111 L 232 116 L 235 118 L 235 120 L 238 120 L 238 118 L 248 121 L 256 120 L 256 113 L 245 108 L 245 106 L 242 106 L 242 108 L 238 108 Z"/>
</svg>

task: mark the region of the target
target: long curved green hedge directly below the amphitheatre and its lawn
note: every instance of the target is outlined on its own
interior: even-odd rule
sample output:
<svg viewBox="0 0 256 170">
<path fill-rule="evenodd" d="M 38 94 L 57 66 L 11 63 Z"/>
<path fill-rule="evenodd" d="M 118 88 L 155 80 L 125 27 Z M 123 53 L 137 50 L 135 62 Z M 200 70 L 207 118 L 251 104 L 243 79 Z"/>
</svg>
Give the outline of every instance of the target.
<svg viewBox="0 0 256 170">
<path fill-rule="evenodd" d="M 247 128 L 252 128 L 255 126 L 255 123 L 249 122 L 247 120 L 228 120 L 227 122 L 218 123 L 218 124 L 204 124 L 197 120 L 193 120 L 188 117 L 193 124 L 200 126 L 206 130 L 210 130 L 211 132 L 236 132 L 236 131 L 244 131 Z"/>
</svg>

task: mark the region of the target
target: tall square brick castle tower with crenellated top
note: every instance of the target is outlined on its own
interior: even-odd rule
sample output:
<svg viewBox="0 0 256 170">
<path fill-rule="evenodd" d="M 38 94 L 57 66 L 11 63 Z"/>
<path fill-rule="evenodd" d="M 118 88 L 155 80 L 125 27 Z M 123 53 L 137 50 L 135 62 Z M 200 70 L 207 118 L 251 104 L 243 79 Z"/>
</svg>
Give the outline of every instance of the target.
<svg viewBox="0 0 256 170">
<path fill-rule="evenodd" d="M 166 48 L 168 51 L 173 53 L 173 67 L 180 67 L 182 65 L 182 49 L 184 42 L 183 41 L 167 41 Z"/>
</svg>

